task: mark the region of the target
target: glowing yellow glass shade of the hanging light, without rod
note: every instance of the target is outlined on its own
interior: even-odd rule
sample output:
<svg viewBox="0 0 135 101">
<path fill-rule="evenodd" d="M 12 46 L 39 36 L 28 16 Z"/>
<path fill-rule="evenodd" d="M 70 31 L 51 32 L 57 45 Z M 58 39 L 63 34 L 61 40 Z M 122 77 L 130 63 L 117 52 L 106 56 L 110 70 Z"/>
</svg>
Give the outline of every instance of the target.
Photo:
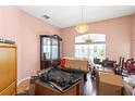
<svg viewBox="0 0 135 101">
<path fill-rule="evenodd" d="M 85 22 L 81 22 L 78 25 L 76 25 L 75 29 L 76 31 L 83 34 L 88 30 L 88 25 Z"/>
</svg>

